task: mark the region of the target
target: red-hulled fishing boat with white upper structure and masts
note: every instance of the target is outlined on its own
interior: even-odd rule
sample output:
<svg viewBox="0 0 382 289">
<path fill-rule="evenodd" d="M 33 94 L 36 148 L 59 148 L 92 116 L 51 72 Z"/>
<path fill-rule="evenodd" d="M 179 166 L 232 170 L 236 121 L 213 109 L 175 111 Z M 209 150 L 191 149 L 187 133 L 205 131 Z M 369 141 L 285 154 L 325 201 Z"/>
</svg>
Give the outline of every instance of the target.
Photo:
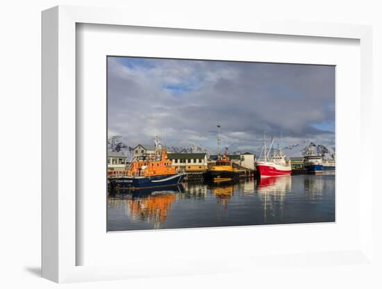
<svg viewBox="0 0 382 289">
<path fill-rule="evenodd" d="M 269 153 L 272 151 L 272 145 L 269 147 L 267 152 L 267 143 L 263 142 L 263 150 L 260 154 L 260 159 L 264 153 L 262 161 L 256 162 L 256 170 L 260 176 L 288 176 L 292 173 L 292 167 L 290 163 L 286 160 L 283 149 L 274 149 L 273 155 L 269 157 Z"/>
</svg>

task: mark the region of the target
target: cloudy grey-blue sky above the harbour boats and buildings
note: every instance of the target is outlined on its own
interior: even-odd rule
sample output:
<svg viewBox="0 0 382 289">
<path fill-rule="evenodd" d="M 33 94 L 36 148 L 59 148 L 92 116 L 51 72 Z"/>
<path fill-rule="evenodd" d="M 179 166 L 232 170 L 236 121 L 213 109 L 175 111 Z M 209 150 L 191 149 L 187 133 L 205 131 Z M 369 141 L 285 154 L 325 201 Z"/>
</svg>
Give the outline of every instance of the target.
<svg viewBox="0 0 382 289">
<path fill-rule="evenodd" d="M 335 68 L 324 65 L 108 57 L 108 136 L 127 145 L 197 144 L 255 151 L 263 134 L 283 145 L 334 145 Z"/>
</svg>

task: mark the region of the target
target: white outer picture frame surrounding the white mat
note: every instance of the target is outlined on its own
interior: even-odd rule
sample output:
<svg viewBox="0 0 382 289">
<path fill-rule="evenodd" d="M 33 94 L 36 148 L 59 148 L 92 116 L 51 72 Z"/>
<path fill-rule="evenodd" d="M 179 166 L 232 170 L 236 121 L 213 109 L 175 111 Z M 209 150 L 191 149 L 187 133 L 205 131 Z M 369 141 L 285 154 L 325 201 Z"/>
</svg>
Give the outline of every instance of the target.
<svg viewBox="0 0 382 289">
<path fill-rule="evenodd" d="M 128 17 L 126 17 L 128 15 Z M 58 6 L 42 13 L 42 276 L 56 282 L 125 279 L 135 276 L 163 276 L 186 272 L 224 272 L 237 270 L 232 265 L 215 267 L 211 263 L 192 260 L 188 266 L 163 267 L 140 274 L 128 265 L 77 265 L 76 251 L 76 24 L 108 24 L 157 28 L 194 29 L 196 31 L 231 31 L 233 33 L 265 33 L 299 35 L 317 38 L 351 38 L 360 41 L 361 147 L 372 142 L 369 124 L 372 119 L 372 28 L 353 24 L 322 24 L 299 22 L 236 22 L 224 19 L 214 22 L 194 17 L 166 18 L 155 13 L 141 17 L 126 10 Z M 362 149 L 364 167 L 372 167 L 371 150 Z M 364 264 L 372 261 L 372 182 L 370 175 L 360 170 L 363 185 L 360 199 L 360 247 L 352 251 L 332 251 L 317 255 L 291 254 L 290 261 L 304 258 L 332 265 L 328 260 L 337 256 Z M 168 235 L 168 232 L 167 232 Z M 341 257 L 342 256 L 342 257 Z M 230 257 L 233 258 L 233 257 Z M 247 261 L 249 266 L 267 263 L 269 256 Z M 274 258 L 274 257 L 272 257 Z M 235 257 L 235 261 L 245 259 Z M 213 262 L 213 261 L 212 261 Z M 137 265 L 135 261 L 134 267 Z M 139 263 L 139 262 L 138 262 Z M 205 263 L 203 266 L 202 263 Z M 256 265 L 257 264 L 257 265 Z M 270 264 L 270 263 L 268 263 Z M 142 264 L 141 264 L 142 265 Z M 138 264 L 139 267 L 139 264 Z M 195 268 L 198 268 L 197 270 Z"/>
</svg>

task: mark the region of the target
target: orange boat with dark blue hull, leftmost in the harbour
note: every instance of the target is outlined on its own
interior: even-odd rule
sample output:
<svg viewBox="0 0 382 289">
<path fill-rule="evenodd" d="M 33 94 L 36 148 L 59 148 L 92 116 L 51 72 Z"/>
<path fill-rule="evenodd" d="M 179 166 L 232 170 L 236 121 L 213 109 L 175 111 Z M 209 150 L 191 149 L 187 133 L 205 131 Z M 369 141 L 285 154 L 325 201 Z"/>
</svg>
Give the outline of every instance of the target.
<svg viewBox="0 0 382 289">
<path fill-rule="evenodd" d="M 178 174 L 167 151 L 155 136 L 155 154 L 135 156 L 127 165 L 124 176 L 110 179 L 111 190 L 140 190 L 179 185 L 185 174 Z"/>
</svg>

